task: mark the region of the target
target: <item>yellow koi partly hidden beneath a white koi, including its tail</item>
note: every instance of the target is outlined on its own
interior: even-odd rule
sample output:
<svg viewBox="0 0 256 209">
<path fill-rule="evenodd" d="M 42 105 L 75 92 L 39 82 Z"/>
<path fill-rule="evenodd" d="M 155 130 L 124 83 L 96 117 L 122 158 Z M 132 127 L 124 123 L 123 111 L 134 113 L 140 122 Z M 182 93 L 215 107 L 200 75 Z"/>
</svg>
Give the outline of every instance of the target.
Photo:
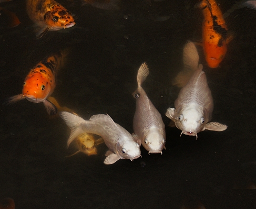
<svg viewBox="0 0 256 209">
<path fill-rule="evenodd" d="M 65 112 L 77 115 L 71 109 L 69 109 L 67 107 L 61 107 L 54 97 L 49 96 L 47 100 L 49 102 L 53 103 L 55 107 L 57 107 L 58 112 L 65 111 Z M 89 155 L 97 155 L 96 146 L 104 142 L 103 138 L 96 139 L 96 136 L 94 134 L 89 134 L 89 133 L 83 133 L 83 134 L 78 135 L 74 141 L 76 142 L 76 146 L 78 147 L 79 150 L 77 152 L 75 152 L 74 154 L 67 156 L 67 157 L 76 155 L 76 153 L 78 153 L 78 152 L 84 152 L 88 156 Z"/>
</svg>

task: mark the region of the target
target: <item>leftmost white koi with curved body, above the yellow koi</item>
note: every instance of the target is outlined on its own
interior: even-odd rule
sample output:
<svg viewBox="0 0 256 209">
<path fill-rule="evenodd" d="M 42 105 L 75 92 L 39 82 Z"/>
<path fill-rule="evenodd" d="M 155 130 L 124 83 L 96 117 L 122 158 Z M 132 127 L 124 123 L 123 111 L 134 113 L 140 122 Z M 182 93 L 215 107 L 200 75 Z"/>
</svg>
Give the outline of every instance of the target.
<svg viewBox="0 0 256 209">
<path fill-rule="evenodd" d="M 109 151 L 106 152 L 105 164 L 115 163 L 119 159 L 130 159 L 131 161 L 140 156 L 138 143 L 131 134 L 120 125 L 116 124 L 109 115 L 93 115 L 90 120 L 68 113 L 60 112 L 59 116 L 64 119 L 71 129 L 67 146 L 82 133 L 91 133 L 101 136 Z"/>
</svg>

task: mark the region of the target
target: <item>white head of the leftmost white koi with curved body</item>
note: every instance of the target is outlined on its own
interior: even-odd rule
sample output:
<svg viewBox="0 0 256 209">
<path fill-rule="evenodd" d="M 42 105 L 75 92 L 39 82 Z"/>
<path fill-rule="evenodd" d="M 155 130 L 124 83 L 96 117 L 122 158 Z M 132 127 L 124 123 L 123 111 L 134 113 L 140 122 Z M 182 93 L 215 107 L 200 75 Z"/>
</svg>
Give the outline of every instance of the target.
<svg viewBox="0 0 256 209">
<path fill-rule="evenodd" d="M 117 152 L 121 158 L 131 161 L 141 157 L 139 144 L 131 140 L 126 140 L 122 145 L 118 143 Z"/>
</svg>

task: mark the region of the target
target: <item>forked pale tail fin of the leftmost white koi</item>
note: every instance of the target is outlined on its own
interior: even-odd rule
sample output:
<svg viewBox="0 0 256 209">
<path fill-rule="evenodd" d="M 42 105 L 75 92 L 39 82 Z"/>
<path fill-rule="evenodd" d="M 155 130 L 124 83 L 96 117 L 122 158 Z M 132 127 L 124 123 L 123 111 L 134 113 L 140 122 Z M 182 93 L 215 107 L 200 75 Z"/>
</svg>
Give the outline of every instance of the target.
<svg viewBox="0 0 256 209">
<path fill-rule="evenodd" d="M 85 120 L 77 115 L 68 113 L 68 112 L 59 112 L 59 116 L 65 121 L 67 126 L 71 129 L 70 136 L 67 141 L 67 148 L 70 143 L 79 135 L 83 134 L 85 131 L 81 128 L 81 124 L 85 122 Z"/>
</svg>

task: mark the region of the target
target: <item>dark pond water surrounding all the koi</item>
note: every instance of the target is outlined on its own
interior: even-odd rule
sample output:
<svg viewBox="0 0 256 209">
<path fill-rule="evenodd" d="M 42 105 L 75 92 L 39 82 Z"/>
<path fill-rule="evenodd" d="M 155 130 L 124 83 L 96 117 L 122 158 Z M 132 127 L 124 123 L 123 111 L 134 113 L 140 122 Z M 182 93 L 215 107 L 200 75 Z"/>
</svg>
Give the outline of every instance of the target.
<svg viewBox="0 0 256 209">
<path fill-rule="evenodd" d="M 109 114 L 132 133 L 140 64 L 150 74 L 143 84 L 166 124 L 166 150 L 133 162 L 105 165 L 104 144 L 98 155 L 66 148 L 69 129 L 50 117 L 42 103 L 23 100 L 1 105 L 0 199 L 16 208 L 255 208 L 256 185 L 256 10 L 235 10 L 226 21 L 233 40 L 220 68 L 210 69 L 198 46 L 214 100 L 212 121 L 227 124 L 222 132 L 195 137 L 169 127 L 166 109 L 179 89 L 171 80 L 182 69 L 186 41 L 201 40 L 197 1 L 123 0 L 120 10 L 104 10 L 80 1 L 59 1 L 73 14 L 73 28 L 49 32 L 36 40 L 25 2 L 1 3 L 22 24 L 0 31 L 1 98 L 22 93 L 29 70 L 50 53 L 70 48 L 52 96 L 85 119 Z M 218 1 L 222 11 L 234 1 Z M 166 19 L 169 16 L 169 19 Z M 165 20 L 166 19 L 166 20 Z M 185 208 L 185 207 L 183 207 Z"/>
</svg>

